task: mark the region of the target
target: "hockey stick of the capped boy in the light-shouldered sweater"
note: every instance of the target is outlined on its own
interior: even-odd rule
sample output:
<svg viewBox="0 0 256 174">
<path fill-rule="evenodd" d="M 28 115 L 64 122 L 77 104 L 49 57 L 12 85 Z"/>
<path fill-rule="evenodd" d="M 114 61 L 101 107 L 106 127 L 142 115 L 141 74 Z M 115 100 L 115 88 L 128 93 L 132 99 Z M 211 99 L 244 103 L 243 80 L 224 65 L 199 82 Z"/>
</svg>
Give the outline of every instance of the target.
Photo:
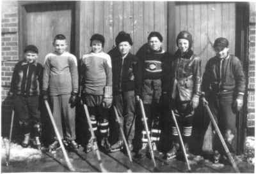
<svg viewBox="0 0 256 174">
<path fill-rule="evenodd" d="M 99 161 L 100 171 L 101 172 L 108 172 L 108 170 L 106 170 L 104 168 L 103 164 L 102 164 L 102 160 L 101 160 L 101 157 L 100 157 L 100 151 L 99 151 L 99 148 L 98 148 L 98 145 L 97 145 L 96 136 L 95 136 L 94 131 L 93 131 L 92 122 L 91 122 L 91 119 L 90 119 L 90 114 L 88 112 L 88 108 L 85 104 L 83 104 L 83 106 L 84 106 L 84 112 L 85 112 L 85 115 L 86 115 L 86 119 L 88 121 L 89 129 L 90 129 L 90 132 L 91 132 L 91 135 L 92 135 L 93 144 L 95 146 L 97 159 Z"/>
</svg>

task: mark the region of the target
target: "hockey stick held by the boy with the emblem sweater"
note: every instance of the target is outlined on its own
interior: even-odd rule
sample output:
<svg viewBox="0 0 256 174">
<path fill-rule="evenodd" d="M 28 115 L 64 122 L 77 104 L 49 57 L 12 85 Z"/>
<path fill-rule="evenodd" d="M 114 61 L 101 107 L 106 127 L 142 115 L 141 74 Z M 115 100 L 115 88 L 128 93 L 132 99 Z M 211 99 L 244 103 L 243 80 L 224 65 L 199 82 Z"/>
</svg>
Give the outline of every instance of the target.
<svg viewBox="0 0 256 174">
<path fill-rule="evenodd" d="M 153 149 L 152 149 L 152 143 L 151 143 L 150 135 L 149 135 L 149 131 L 148 131 L 147 118 L 146 118 L 144 106 L 143 106 L 143 103 L 142 103 L 141 99 L 139 100 L 139 103 L 140 103 L 141 115 L 143 117 L 143 123 L 144 123 L 145 131 L 147 133 L 148 147 L 149 147 L 149 150 L 150 150 L 150 156 L 151 156 L 152 161 L 154 163 L 154 167 L 156 168 L 156 161 L 155 161 L 155 158 L 154 158 L 154 152 L 153 152 Z"/>
</svg>

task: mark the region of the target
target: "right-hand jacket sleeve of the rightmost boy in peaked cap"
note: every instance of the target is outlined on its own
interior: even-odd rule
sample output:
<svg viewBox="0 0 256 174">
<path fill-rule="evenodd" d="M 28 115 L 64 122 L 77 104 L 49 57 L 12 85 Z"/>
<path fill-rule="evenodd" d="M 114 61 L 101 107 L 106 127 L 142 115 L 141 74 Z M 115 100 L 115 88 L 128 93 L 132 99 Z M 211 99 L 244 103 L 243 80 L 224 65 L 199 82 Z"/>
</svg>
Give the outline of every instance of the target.
<svg viewBox="0 0 256 174">
<path fill-rule="evenodd" d="M 236 80 L 237 96 L 243 96 L 245 91 L 245 76 L 244 76 L 241 62 L 237 57 L 236 57 L 236 62 L 234 64 L 234 77 Z"/>
</svg>

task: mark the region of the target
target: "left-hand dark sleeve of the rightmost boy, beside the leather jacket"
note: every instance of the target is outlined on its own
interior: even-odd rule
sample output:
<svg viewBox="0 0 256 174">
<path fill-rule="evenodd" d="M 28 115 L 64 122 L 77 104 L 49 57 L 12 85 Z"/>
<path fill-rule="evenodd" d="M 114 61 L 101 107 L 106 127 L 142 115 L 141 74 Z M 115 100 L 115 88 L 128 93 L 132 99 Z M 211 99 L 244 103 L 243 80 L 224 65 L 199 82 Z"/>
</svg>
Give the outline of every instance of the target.
<svg viewBox="0 0 256 174">
<path fill-rule="evenodd" d="M 211 60 L 209 60 L 205 65 L 205 71 L 204 75 L 202 77 L 202 91 L 205 92 L 205 94 L 209 94 L 210 92 L 210 83 L 211 83 L 211 73 L 209 71 L 211 67 Z"/>
</svg>

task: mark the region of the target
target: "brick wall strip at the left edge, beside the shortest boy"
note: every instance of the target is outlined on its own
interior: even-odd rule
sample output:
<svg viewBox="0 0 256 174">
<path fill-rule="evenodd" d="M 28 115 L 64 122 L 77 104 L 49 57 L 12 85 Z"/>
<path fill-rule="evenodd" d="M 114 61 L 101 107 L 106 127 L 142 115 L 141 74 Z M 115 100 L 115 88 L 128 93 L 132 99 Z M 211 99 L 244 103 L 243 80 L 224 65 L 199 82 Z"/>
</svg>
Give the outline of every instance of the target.
<svg viewBox="0 0 256 174">
<path fill-rule="evenodd" d="M 1 99 L 2 135 L 10 127 L 10 89 L 12 72 L 19 61 L 18 52 L 18 4 L 17 1 L 3 1 L 1 11 Z M 8 132 L 8 131 L 7 131 Z"/>
</svg>

